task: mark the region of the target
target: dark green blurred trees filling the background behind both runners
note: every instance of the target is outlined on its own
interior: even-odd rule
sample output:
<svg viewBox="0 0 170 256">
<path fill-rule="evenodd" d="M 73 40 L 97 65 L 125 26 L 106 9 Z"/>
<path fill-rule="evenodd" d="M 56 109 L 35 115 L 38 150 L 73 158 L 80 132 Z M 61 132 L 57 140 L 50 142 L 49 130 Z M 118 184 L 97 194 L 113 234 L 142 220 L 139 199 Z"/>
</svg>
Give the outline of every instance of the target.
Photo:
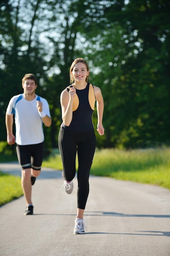
<svg viewBox="0 0 170 256">
<path fill-rule="evenodd" d="M 60 93 L 83 57 L 105 100 L 98 147 L 147 147 L 170 141 L 170 1 L 5 0 L 0 3 L 0 141 L 9 99 L 24 74 L 38 77 L 50 105 L 46 148 L 56 148 Z M 96 127 L 96 112 L 94 112 Z"/>
</svg>

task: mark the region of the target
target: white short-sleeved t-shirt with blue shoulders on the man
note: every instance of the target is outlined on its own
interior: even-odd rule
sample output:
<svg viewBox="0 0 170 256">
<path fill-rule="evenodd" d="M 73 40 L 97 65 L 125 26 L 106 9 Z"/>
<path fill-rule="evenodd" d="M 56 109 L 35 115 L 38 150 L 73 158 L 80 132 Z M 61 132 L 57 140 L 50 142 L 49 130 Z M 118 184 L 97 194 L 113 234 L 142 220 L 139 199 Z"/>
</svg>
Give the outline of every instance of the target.
<svg viewBox="0 0 170 256">
<path fill-rule="evenodd" d="M 7 107 L 8 115 L 15 115 L 15 141 L 19 145 L 39 144 L 44 141 L 43 123 L 37 110 L 37 100 L 42 102 L 43 112 L 50 117 L 46 99 L 36 95 L 32 101 L 24 99 L 24 94 L 11 98 Z"/>
</svg>

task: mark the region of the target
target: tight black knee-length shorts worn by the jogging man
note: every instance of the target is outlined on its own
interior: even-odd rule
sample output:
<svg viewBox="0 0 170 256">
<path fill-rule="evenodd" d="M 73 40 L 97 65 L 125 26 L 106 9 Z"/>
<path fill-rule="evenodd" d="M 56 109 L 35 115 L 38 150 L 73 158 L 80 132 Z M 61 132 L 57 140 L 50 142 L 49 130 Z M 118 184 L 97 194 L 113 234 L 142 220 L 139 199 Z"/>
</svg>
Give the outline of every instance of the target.
<svg viewBox="0 0 170 256">
<path fill-rule="evenodd" d="M 16 146 L 18 162 L 22 170 L 33 168 L 40 171 L 43 160 L 44 142 L 33 145 Z"/>
</svg>

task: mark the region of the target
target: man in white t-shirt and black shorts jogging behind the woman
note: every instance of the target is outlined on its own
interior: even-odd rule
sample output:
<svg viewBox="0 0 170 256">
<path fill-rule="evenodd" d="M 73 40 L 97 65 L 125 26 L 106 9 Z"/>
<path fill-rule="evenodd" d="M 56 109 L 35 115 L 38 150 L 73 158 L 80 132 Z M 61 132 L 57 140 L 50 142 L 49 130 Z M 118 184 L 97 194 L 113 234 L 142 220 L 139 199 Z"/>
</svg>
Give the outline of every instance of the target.
<svg viewBox="0 0 170 256">
<path fill-rule="evenodd" d="M 22 79 L 23 94 L 15 95 L 9 101 L 6 112 L 7 142 L 16 143 L 17 158 L 22 168 L 21 184 L 26 200 L 24 215 L 33 214 L 31 200 L 32 185 L 41 173 L 44 150 L 45 126 L 51 125 L 50 110 L 46 99 L 35 94 L 37 78 L 25 74 Z M 13 114 L 16 134 L 13 135 Z"/>
</svg>

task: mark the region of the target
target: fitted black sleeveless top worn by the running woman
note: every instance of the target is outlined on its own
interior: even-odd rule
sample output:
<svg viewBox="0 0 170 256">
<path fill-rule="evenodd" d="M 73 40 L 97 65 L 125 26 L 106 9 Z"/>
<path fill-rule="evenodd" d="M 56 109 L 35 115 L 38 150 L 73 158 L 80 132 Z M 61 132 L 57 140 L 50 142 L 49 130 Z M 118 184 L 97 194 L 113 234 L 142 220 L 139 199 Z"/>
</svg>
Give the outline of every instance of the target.
<svg viewBox="0 0 170 256">
<path fill-rule="evenodd" d="M 70 85 L 70 87 L 72 87 L 72 85 Z M 70 90 L 69 88 L 67 88 L 68 91 Z M 76 110 L 74 110 L 74 106 L 73 106 L 73 115 L 72 115 L 72 121 L 70 123 L 70 126 L 65 126 L 63 124 L 62 127 L 65 130 L 75 130 L 75 131 L 92 130 L 94 129 L 94 125 L 92 122 L 92 115 L 93 115 L 94 109 L 92 108 L 94 108 L 93 106 L 95 104 L 95 95 L 94 95 L 93 85 L 87 83 L 87 86 L 85 89 L 83 90 L 76 89 L 76 94 L 78 98 L 75 97 L 74 99 L 78 107 L 76 108 Z"/>
</svg>

